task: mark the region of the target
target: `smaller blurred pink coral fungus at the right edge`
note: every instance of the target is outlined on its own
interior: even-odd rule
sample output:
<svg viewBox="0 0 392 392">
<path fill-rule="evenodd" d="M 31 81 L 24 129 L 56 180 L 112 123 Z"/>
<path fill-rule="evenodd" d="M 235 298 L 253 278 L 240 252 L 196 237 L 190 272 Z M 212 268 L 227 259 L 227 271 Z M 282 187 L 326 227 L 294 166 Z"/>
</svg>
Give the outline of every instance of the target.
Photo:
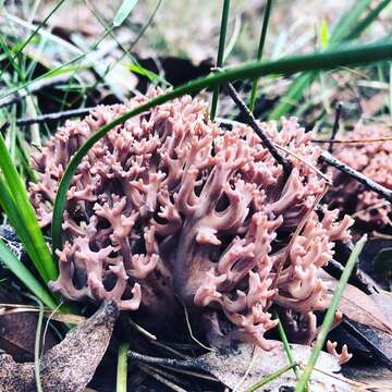
<svg viewBox="0 0 392 392">
<path fill-rule="evenodd" d="M 360 122 L 344 138 L 347 142 L 364 140 L 364 143 L 335 145 L 333 155 L 351 168 L 392 189 L 392 140 L 382 140 L 391 136 L 391 130 L 387 126 L 364 125 Z M 378 138 L 381 142 L 366 142 Z M 391 224 L 390 203 L 342 172 L 334 172 L 333 175 L 335 186 L 330 199 L 335 206 L 352 211 L 359 221 L 378 225 Z"/>
</svg>

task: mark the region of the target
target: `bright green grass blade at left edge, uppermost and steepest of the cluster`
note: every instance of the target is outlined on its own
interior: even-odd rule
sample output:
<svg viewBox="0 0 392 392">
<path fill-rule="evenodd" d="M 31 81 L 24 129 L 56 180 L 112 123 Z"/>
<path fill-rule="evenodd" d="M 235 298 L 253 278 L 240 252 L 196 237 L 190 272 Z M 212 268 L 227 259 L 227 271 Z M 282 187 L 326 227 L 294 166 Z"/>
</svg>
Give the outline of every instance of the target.
<svg viewBox="0 0 392 392">
<path fill-rule="evenodd" d="M 46 283 L 57 278 L 57 266 L 50 255 L 48 245 L 37 222 L 35 211 L 27 196 L 26 187 L 21 180 L 15 166 L 9 155 L 5 142 L 0 134 L 0 169 L 3 173 L 8 188 L 17 206 L 20 217 L 27 230 L 36 254 L 29 255 Z M 1 195 L 0 195 L 1 197 Z M 16 233 L 20 234 L 20 233 Z M 22 240 L 22 238 L 21 238 Z M 26 249 L 29 250 L 28 248 Z"/>
</svg>

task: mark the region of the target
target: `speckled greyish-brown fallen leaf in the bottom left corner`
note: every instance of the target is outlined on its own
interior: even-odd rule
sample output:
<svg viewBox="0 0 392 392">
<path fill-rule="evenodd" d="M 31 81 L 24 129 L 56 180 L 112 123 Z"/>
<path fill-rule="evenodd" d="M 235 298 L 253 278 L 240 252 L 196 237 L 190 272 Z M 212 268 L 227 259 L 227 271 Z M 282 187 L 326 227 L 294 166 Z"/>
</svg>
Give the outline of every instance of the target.
<svg viewBox="0 0 392 392">
<path fill-rule="evenodd" d="M 85 390 L 108 347 L 118 315 L 114 302 L 103 303 L 93 317 L 44 354 L 39 369 L 45 392 Z M 34 364 L 17 364 L 10 355 L 0 355 L 0 391 L 36 391 Z"/>
</svg>

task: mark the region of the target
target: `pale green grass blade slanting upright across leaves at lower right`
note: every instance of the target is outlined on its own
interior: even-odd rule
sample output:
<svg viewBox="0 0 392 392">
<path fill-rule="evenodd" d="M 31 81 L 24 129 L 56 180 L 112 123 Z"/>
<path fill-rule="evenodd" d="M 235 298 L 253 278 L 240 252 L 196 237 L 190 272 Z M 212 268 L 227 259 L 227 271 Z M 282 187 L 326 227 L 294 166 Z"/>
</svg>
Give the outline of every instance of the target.
<svg viewBox="0 0 392 392">
<path fill-rule="evenodd" d="M 320 332 L 319 332 L 316 343 L 311 350 L 310 358 L 304 369 L 303 375 L 301 376 L 299 381 L 297 382 L 295 392 L 303 392 L 305 390 L 308 381 L 310 380 L 311 371 L 316 365 L 316 362 L 320 354 L 320 351 L 322 350 L 322 347 L 326 343 L 327 335 L 331 329 L 333 318 L 334 318 L 335 311 L 338 309 L 339 302 L 343 294 L 344 287 L 347 284 L 347 281 L 351 277 L 354 266 L 358 261 L 359 254 L 360 254 L 362 249 L 364 248 L 366 241 L 367 241 L 367 237 L 366 237 L 366 235 L 364 235 L 355 244 L 354 249 L 348 257 L 347 264 L 344 267 L 343 273 L 342 273 L 341 279 L 339 280 L 338 286 L 335 289 L 335 292 L 334 292 L 334 295 L 332 298 L 332 303 L 327 310 L 326 317 L 324 317 L 321 328 L 320 328 Z"/>
</svg>

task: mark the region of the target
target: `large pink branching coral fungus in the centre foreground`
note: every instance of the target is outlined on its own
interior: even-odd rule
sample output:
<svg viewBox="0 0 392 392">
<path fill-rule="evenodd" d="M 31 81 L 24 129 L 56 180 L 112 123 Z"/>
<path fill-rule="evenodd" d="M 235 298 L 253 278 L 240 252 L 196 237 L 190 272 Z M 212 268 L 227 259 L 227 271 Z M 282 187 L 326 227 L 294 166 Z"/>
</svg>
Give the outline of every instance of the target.
<svg viewBox="0 0 392 392">
<path fill-rule="evenodd" d="M 72 155 L 146 99 L 69 121 L 32 157 L 40 181 L 30 185 L 30 198 L 42 226 L 51 222 Z M 60 275 L 51 289 L 72 299 L 114 298 L 122 309 L 156 317 L 179 297 L 209 321 L 210 336 L 270 350 L 264 334 L 277 324 L 271 304 L 311 320 L 329 306 L 318 271 L 334 242 L 350 238 L 352 220 L 336 221 L 338 211 L 326 207 L 313 210 L 326 184 L 309 166 L 287 156 L 293 170 L 286 177 L 249 127 L 224 132 L 206 112 L 204 101 L 185 96 L 96 143 L 68 193 Z M 280 131 L 274 122 L 261 126 L 275 144 L 316 164 L 320 150 L 295 119 L 283 120 Z"/>
</svg>

